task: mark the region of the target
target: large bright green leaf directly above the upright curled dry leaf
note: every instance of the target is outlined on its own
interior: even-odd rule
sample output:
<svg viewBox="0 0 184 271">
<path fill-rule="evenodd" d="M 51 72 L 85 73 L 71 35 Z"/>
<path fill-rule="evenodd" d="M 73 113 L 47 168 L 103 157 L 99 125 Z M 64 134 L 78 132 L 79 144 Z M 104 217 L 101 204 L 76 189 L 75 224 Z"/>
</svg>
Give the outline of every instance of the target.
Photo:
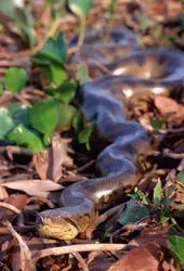
<svg viewBox="0 0 184 271">
<path fill-rule="evenodd" d="M 32 128 L 51 136 L 58 120 L 58 103 L 53 99 L 36 103 L 28 112 L 28 119 Z"/>
</svg>

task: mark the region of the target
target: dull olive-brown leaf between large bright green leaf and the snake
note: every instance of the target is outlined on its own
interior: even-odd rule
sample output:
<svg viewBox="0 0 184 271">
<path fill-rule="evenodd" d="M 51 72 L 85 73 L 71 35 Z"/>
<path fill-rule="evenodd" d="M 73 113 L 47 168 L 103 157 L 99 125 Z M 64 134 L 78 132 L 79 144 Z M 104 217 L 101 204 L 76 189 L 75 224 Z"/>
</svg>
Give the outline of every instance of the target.
<svg viewBox="0 0 184 271">
<path fill-rule="evenodd" d="M 77 109 L 69 104 L 61 104 L 58 107 L 58 121 L 56 130 L 64 131 L 71 128 L 73 119 L 77 113 Z"/>
</svg>

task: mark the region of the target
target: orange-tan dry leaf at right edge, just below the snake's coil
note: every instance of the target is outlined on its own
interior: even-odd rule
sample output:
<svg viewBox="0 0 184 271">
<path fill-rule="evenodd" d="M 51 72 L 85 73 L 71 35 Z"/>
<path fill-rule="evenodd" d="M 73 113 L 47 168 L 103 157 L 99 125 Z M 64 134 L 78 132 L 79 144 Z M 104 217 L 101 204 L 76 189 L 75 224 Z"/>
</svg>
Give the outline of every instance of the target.
<svg viewBox="0 0 184 271">
<path fill-rule="evenodd" d="M 155 106 L 166 116 L 169 113 L 175 113 L 169 119 L 181 124 L 184 120 L 184 106 L 171 98 L 155 95 Z"/>
</svg>

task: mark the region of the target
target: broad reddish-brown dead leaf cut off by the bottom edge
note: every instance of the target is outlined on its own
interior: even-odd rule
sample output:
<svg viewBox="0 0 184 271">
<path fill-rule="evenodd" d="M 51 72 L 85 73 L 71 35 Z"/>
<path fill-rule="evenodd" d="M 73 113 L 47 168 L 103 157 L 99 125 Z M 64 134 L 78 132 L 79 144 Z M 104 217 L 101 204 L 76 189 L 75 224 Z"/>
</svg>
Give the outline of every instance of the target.
<svg viewBox="0 0 184 271">
<path fill-rule="evenodd" d="M 115 262 L 108 271 L 159 271 L 163 253 L 158 244 L 147 243 L 132 249 Z"/>
</svg>

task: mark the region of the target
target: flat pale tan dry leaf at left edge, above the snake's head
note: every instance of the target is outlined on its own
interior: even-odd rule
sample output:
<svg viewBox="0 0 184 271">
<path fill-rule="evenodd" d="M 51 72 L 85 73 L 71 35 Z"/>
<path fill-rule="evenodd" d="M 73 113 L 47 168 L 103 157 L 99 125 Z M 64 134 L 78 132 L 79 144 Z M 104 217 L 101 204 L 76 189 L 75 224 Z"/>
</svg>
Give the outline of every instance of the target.
<svg viewBox="0 0 184 271">
<path fill-rule="evenodd" d="M 64 186 L 51 180 L 21 180 L 1 183 L 0 186 L 24 191 L 31 196 L 48 196 L 50 191 L 63 190 Z"/>
</svg>

